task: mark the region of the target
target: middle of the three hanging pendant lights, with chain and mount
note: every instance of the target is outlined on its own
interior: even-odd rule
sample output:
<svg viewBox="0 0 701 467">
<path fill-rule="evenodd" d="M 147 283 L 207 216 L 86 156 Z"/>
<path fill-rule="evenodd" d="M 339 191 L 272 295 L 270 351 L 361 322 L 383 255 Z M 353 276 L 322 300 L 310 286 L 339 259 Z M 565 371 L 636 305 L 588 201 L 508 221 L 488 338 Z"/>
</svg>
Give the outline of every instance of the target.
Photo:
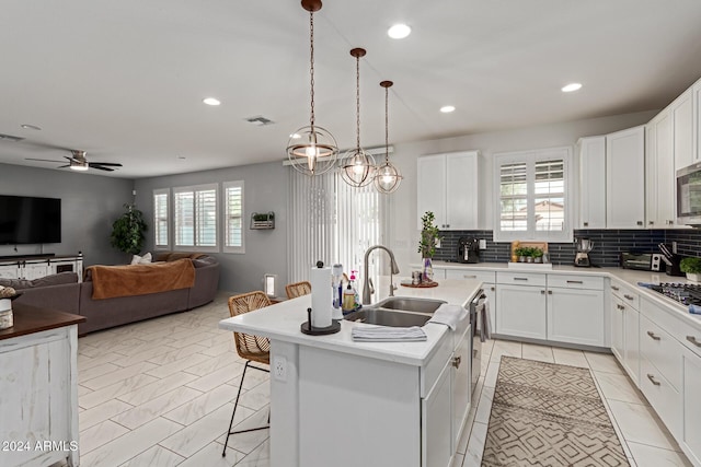
<svg viewBox="0 0 701 467">
<path fill-rule="evenodd" d="M 356 147 L 346 152 L 341 167 L 341 178 L 355 188 L 370 185 L 375 176 L 375 159 L 360 148 L 360 57 L 365 57 L 365 54 L 363 48 L 350 50 L 355 57 Z"/>
</svg>

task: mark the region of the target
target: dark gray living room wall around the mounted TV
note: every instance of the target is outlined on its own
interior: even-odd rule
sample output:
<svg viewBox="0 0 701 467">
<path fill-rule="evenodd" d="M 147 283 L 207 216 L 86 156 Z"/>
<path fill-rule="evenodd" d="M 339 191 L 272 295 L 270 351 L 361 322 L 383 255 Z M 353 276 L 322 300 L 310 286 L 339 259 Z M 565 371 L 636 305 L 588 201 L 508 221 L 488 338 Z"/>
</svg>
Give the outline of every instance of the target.
<svg viewBox="0 0 701 467">
<path fill-rule="evenodd" d="M 110 245 L 112 223 L 131 202 L 134 180 L 90 173 L 0 164 L 0 194 L 61 199 L 61 243 L 0 245 L 0 256 L 83 253 L 89 265 L 124 264 L 127 256 Z"/>
</svg>

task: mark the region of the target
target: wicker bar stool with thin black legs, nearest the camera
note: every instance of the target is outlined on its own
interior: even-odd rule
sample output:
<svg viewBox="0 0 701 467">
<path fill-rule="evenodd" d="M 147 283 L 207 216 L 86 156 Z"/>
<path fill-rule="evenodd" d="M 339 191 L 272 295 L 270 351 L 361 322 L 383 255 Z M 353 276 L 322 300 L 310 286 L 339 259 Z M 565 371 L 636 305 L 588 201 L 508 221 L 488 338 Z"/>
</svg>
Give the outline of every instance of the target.
<svg viewBox="0 0 701 467">
<path fill-rule="evenodd" d="M 271 300 L 264 292 L 249 292 L 241 295 L 234 295 L 229 297 L 229 313 L 231 316 L 242 315 L 244 313 L 252 312 L 254 310 L 263 308 L 271 305 Z M 239 357 L 245 359 L 245 366 L 243 367 L 243 375 L 241 376 L 241 384 L 239 385 L 239 393 L 237 394 L 237 401 L 233 405 L 233 413 L 231 415 L 231 422 L 229 422 L 229 430 L 227 431 L 227 441 L 223 443 L 223 451 L 221 456 L 227 455 L 227 444 L 229 443 L 229 436 L 237 433 L 245 433 L 249 431 L 265 430 L 271 428 L 271 416 L 268 413 L 267 422 L 265 427 L 252 428 L 249 430 L 231 431 L 233 425 L 233 418 L 237 415 L 237 407 L 239 407 L 239 397 L 241 397 L 241 388 L 243 387 L 243 380 L 245 378 L 245 372 L 250 367 L 269 373 L 271 370 L 256 366 L 252 364 L 262 363 L 265 365 L 271 364 L 271 341 L 266 337 L 252 336 L 244 332 L 233 332 L 233 340 L 237 345 L 237 352 Z"/>
</svg>

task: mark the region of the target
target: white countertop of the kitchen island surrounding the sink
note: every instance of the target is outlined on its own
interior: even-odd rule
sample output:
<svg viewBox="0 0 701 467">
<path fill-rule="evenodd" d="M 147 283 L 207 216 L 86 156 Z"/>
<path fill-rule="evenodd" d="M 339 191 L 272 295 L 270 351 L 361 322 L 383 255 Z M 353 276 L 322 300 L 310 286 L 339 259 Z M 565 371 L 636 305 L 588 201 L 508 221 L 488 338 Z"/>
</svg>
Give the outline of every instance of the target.
<svg viewBox="0 0 701 467">
<path fill-rule="evenodd" d="M 378 287 L 376 287 L 375 303 L 386 299 L 389 291 L 388 278 L 380 278 L 379 282 Z M 395 283 L 399 283 L 397 278 Z M 438 299 L 449 304 L 468 307 L 470 299 L 480 290 L 482 284 L 480 281 L 468 279 L 446 279 L 439 280 L 438 283 L 438 287 L 426 289 L 399 285 L 394 295 Z M 264 336 L 271 340 L 281 340 L 416 366 L 423 365 L 430 358 L 436 343 L 448 330 L 445 325 L 427 323 L 423 327 L 427 336 L 425 342 L 355 342 L 350 337 L 350 329 L 356 326 L 370 325 L 342 320 L 340 332 L 327 336 L 309 336 L 301 332 L 300 325 L 307 322 L 307 308 L 310 306 L 311 295 L 303 295 L 244 315 L 223 319 L 219 322 L 219 327 L 232 331 Z"/>
</svg>

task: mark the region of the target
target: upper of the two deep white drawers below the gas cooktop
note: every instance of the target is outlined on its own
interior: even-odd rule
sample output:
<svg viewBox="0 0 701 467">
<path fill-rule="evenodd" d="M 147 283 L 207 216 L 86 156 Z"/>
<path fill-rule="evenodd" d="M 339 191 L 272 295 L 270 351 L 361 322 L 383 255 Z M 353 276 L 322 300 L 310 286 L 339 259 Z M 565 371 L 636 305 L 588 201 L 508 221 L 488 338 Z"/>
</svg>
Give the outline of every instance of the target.
<svg viewBox="0 0 701 467">
<path fill-rule="evenodd" d="M 640 317 L 640 350 L 675 389 L 681 387 L 679 342 L 643 315 Z"/>
</svg>

